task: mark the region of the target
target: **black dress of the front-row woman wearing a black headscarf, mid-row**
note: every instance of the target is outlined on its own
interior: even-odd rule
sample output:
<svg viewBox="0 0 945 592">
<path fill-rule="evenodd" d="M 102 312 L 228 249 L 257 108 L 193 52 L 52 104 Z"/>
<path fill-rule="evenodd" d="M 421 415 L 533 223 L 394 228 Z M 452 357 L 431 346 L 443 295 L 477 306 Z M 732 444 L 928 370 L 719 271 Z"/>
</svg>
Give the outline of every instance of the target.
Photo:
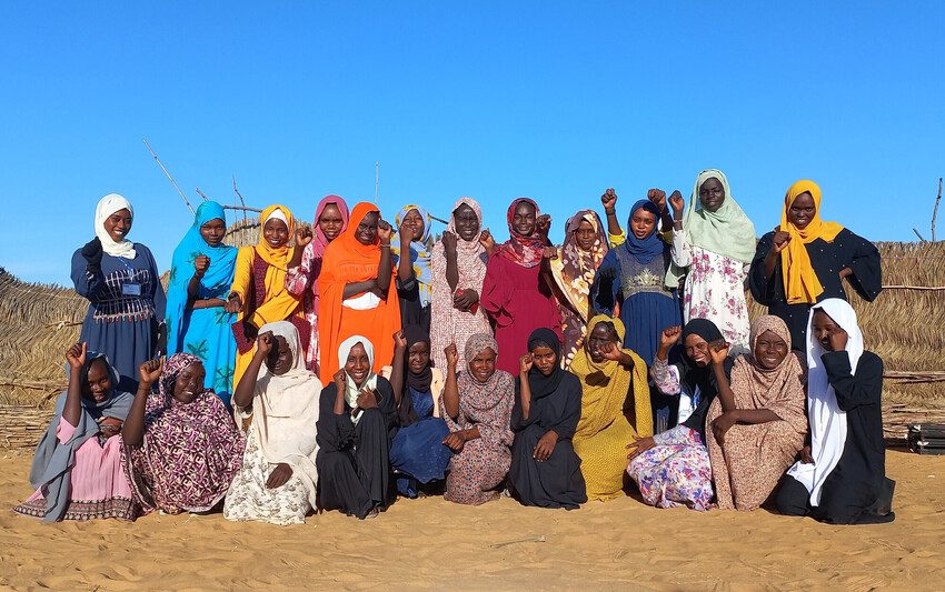
<svg viewBox="0 0 945 592">
<path fill-rule="evenodd" d="M 538 372 L 533 369 L 531 372 Z M 565 370 L 557 389 L 545 397 L 531 395 L 528 419 L 521 417 L 521 383 L 515 384 L 515 407 L 511 429 L 509 482 L 524 505 L 575 509 L 587 502 L 580 459 L 574 450 L 571 438 L 580 420 L 580 380 Z M 533 458 L 533 451 L 549 430 L 558 434 L 555 451 L 545 462 Z"/>
</svg>

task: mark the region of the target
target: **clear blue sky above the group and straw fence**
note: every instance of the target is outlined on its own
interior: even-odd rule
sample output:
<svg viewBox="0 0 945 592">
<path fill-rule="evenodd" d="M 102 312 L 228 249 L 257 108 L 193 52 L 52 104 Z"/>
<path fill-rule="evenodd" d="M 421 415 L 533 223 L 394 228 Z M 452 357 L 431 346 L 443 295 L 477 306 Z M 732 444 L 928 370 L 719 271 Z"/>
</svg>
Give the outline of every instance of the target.
<svg viewBox="0 0 945 592">
<path fill-rule="evenodd" d="M 131 6 L 129 6 L 131 4 Z M 928 238 L 945 174 L 945 2 L 3 2 L 0 265 L 69 281 L 98 199 L 161 268 L 191 200 L 310 220 L 326 193 L 447 217 L 518 195 L 619 215 L 726 171 L 760 232 L 810 178 L 826 219 Z M 939 217 L 945 235 L 945 211 Z M 441 229 L 437 225 L 436 228 Z"/>
</svg>

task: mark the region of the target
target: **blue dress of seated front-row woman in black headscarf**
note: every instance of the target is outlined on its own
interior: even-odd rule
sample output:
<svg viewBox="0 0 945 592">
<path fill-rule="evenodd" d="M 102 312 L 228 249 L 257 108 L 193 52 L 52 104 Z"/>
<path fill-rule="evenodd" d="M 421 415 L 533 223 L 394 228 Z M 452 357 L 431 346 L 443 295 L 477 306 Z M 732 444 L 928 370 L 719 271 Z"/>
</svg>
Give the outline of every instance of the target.
<svg viewBox="0 0 945 592">
<path fill-rule="evenodd" d="M 418 420 L 401 425 L 390 444 L 390 465 L 397 474 L 397 492 L 416 498 L 419 483 L 441 480 L 452 458 L 452 451 L 442 444 L 449 428 L 441 418 L 434 417 L 434 397 L 430 391 L 418 392 L 406 387 Z"/>
</svg>

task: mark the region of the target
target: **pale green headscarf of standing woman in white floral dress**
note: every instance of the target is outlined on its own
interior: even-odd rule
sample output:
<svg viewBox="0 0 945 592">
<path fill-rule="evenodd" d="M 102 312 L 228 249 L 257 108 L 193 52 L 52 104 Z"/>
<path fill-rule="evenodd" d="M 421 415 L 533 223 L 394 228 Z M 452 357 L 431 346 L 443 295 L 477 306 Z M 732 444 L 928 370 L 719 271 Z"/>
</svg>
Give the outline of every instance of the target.
<svg viewBox="0 0 945 592">
<path fill-rule="evenodd" d="M 699 188 L 713 177 L 722 183 L 725 201 L 718 210 L 710 212 L 699 201 Z M 706 169 L 696 177 L 696 187 L 683 214 L 683 232 L 690 247 L 699 247 L 742 263 L 752 262 L 758 244 L 755 224 L 732 197 L 728 179 L 718 169 Z M 685 275 L 685 268 L 670 265 L 666 272 L 666 285 L 676 288 Z"/>
</svg>

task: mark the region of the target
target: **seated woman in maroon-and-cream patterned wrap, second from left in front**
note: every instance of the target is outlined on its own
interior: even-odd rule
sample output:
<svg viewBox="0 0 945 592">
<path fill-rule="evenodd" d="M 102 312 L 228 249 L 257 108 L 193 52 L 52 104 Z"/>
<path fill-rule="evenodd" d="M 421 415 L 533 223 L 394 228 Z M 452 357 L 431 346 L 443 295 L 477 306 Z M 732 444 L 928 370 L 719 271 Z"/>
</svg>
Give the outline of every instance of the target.
<svg viewBox="0 0 945 592">
<path fill-rule="evenodd" d="M 121 430 L 125 470 L 146 512 L 209 512 L 242 465 L 246 437 L 212 389 L 203 364 L 190 353 L 148 362 Z"/>
</svg>

